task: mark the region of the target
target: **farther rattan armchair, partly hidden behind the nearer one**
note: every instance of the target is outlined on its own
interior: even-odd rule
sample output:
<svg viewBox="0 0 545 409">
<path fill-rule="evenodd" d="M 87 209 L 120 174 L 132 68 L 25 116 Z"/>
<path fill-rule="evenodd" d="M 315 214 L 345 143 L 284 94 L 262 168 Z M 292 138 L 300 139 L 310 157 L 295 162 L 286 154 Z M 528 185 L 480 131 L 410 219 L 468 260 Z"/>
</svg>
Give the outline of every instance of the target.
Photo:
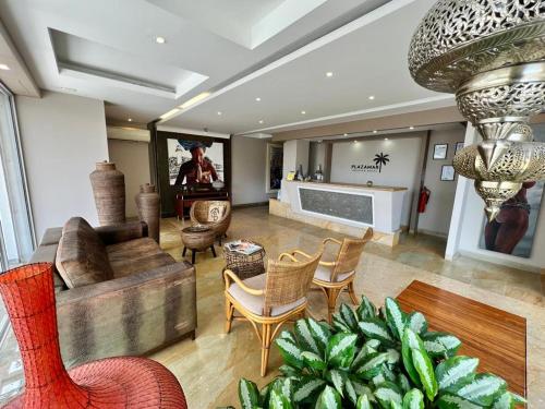
<svg viewBox="0 0 545 409">
<path fill-rule="evenodd" d="M 314 275 L 313 284 L 324 291 L 327 298 L 327 317 L 331 322 L 335 312 L 337 298 L 342 290 L 348 290 L 350 299 L 358 304 L 358 297 L 354 291 L 355 267 L 360 262 L 363 248 L 373 238 L 373 229 L 370 227 L 362 239 L 348 239 L 340 241 L 332 238 L 324 239 L 323 246 L 332 243 L 339 245 L 339 251 L 335 261 L 320 261 Z M 306 258 L 312 256 L 295 250 L 292 255 L 303 255 Z"/>
</svg>

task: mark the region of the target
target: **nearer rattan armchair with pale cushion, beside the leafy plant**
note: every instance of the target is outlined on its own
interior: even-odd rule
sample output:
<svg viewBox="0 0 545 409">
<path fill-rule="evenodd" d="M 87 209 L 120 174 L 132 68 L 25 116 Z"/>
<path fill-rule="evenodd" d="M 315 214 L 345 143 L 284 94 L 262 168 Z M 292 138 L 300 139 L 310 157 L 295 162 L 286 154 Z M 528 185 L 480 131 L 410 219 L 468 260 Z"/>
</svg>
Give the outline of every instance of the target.
<svg viewBox="0 0 545 409">
<path fill-rule="evenodd" d="M 304 316 L 307 292 L 322 250 L 304 262 L 282 253 L 278 261 L 268 261 L 267 272 L 241 280 L 226 269 L 226 333 L 233 320 L 250 321 L 262 342 L 262 376 L 267 372 L 270 342 L 287 321 Z M 234 315 L 237 310 L 241 316 Z M 259 330 L 261 326 L 261 330 Z"/>
</svg>

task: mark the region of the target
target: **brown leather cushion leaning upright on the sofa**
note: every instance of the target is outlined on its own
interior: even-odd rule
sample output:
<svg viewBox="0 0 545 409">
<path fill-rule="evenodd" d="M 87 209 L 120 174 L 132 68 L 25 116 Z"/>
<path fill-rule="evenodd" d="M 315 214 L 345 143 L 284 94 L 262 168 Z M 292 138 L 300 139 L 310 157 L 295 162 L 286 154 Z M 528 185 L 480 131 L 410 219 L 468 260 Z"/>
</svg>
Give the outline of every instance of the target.
<svg viewBox="0 0 545 409">
<path fill-rule="evenodd" d="M 72 217 L 62 229 L 56 266 L 69 288 L 113 278 L 106 246 L 89 224 Z"/>
</svg>

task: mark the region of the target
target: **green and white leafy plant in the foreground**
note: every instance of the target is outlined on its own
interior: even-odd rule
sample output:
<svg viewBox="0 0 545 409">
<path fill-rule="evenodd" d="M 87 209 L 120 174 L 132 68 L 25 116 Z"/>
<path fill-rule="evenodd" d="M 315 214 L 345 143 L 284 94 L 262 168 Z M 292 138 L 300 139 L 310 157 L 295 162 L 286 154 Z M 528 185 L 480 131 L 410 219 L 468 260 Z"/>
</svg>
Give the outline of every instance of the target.
<svg viewBox="0 0 545 409">
<path fill-rule="evenodd" d="M 461 341 L 429 332 L 420 312 L 395 299 L 383 309 L 366 298 L 355 311 L 341 304 L 331 325 L 299 320 L 276 339 L 284 364 L 261 390 L 239 384 L 243 409 L 512 409 L 524 404 L 479 359 L 457 356 Z"/>
</svg>

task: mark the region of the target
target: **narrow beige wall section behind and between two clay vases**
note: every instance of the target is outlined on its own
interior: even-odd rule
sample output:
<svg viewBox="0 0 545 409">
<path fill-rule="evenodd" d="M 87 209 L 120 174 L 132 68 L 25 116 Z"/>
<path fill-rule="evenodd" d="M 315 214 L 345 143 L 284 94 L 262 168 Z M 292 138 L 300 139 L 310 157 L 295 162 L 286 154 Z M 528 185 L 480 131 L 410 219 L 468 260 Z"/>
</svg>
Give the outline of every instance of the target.
<svg viewBox="0 0 545 409">
<path fill-rule="evenodd" d="M 125 210 L 126 217 L 138 215 L 134 196 L 140 185 L 149 183 L 149 144 L 137 141 L 108 140 L 110 161 L 125 176 Z"/>
</svg>

